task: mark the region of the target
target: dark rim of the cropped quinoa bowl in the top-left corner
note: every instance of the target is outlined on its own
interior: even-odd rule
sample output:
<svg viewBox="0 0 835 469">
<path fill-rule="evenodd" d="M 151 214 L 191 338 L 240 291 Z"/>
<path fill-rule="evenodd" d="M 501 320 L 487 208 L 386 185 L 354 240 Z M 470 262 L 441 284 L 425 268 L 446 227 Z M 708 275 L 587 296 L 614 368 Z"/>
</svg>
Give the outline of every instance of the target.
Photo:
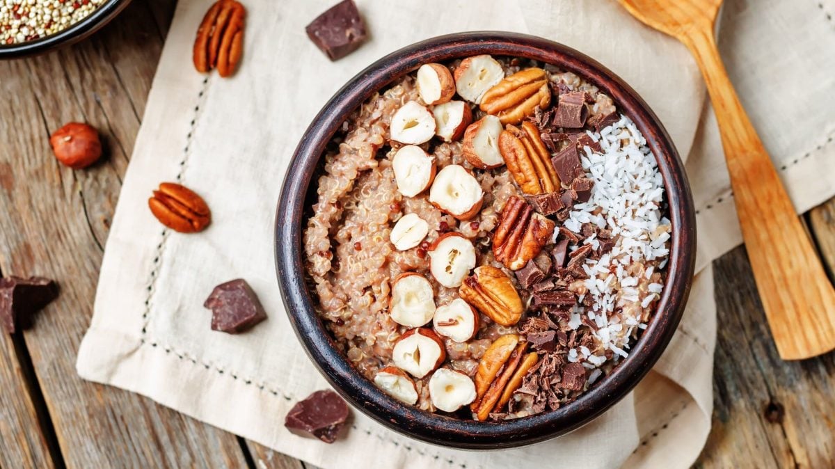
<svg viewBox="0 0 835 469">
<path fill-rule="evenodd" d="M 73 23 L 68 28 L 58 31 L 58 33 L 23 43 L 0 44 L 0 59 L 22 58 L 78 43 L 78 41 L 98 31 L 99 28 L 103 28 L 130 2 L 131 0 L 108 0 L 78 23 Z"/>
</svg>

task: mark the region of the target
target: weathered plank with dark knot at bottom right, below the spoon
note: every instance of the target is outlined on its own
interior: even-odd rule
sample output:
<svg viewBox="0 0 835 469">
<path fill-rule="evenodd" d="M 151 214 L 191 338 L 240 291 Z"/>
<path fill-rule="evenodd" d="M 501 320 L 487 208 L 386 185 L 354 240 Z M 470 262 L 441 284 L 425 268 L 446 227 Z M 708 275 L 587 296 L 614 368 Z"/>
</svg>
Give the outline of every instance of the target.
<svg viewBox="0 0 835 469">
<path fill-rule="evenodd" d="M 835 455 L 835 355 L 782 361 L 745 250 L 714 262 L 713 430 L 696 466 L 827 467 Z"/>
</svg>

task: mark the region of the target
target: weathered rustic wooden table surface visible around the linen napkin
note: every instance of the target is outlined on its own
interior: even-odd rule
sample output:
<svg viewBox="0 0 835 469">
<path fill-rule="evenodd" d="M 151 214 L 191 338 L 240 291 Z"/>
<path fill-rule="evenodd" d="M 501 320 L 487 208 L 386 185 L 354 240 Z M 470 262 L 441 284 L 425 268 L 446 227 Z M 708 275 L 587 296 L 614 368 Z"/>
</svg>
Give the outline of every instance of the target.
<svg viewBox="0 0 835 469">
<path fill-rule="evenodd" d="M 0 272 L 44 275 L 62 287 L 33 329 L 0 334 L 0 467 L 304 466 L 75 373 L 110 218 L 174 6 L 134 2 L 72 48 L 0 62 Z M 55 161 L 48 136 L 72 120 L 100 129 L 106 161 L 83 171 Z M 835 199 L 803 219 L 832 274 Z M 745 251 L 714 265 L 716 409 L 697 466 L 832 466 L 835 355 L 780 361 Z"/>
</svg>

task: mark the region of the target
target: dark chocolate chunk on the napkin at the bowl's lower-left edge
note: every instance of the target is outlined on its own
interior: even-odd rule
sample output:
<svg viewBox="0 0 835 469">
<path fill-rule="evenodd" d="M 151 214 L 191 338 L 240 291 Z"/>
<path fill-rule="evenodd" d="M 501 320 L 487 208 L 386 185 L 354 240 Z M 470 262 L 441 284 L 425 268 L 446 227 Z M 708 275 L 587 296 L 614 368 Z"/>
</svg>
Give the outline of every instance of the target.
<svg viewBox="0 0 835 469">
<path fill-rule="evenodd" d="M 348 406 L 334 391 L 316 391 L 287 412 L 284 426 L 304 431 L 326 443 L 337 440 L 348 418 Z"/>
</svg>

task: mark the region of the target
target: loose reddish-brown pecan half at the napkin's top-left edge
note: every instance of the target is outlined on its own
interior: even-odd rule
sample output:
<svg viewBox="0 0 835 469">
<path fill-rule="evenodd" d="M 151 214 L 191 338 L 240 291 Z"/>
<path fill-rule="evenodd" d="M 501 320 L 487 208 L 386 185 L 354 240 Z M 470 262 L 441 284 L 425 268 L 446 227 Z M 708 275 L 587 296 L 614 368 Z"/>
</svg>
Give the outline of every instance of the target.
<svg viewBox="0 0 835 469">
<path fill-rule="evenodd" d="M 235 0 L 219 0 L 197 28 L 193 59 L 200 73 L 217 68 L 221 77 L 235 73 L 243 53 L 246 10 Z"/>
</svg>

